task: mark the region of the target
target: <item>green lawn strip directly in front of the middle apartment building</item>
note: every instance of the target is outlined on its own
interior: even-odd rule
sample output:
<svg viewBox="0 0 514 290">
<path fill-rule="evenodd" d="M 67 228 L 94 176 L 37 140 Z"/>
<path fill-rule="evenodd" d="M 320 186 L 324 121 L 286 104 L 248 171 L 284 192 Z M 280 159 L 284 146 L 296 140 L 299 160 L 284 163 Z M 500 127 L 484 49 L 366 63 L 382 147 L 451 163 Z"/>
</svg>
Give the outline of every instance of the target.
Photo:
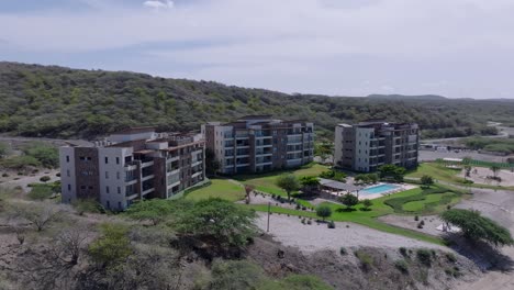
<svg viewBox="0 0 514 290">
<path fill-rule="evenodd" d="M 234 179 L 241 181 L 244 185 L 254 186 L 255 189 L 258 191 L 287 197 L 287 193 L 276 185 L 278 176 L 282 174 L 293 174 L 297 177 L 319 176 L 321 172 L 326 171 L 328 169 L 329 167 L 324 165 L 310 164 L 308 166 L 303 166 L 294 170 L 283 170 L 262 175 L 237 176 L 234 177 Z"/>
</svg>

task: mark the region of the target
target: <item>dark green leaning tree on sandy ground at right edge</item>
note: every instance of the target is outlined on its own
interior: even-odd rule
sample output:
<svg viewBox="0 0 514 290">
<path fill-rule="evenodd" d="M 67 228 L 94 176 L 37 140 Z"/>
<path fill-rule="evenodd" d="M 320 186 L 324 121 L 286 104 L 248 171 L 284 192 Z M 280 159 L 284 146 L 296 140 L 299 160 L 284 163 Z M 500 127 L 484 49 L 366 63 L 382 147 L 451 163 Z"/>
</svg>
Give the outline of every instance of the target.
<svg viewBox="0 0 514 290">
<path fill-rule="evenodd" d="M 451 209 L 440 214 L 447 224 L 461 228 L 463 236 L 470 241 L 485 241 L 495 246 L 514 245 L 514 239 L 507 228 L 482 216 L 479 211 Z"/>
</svg>

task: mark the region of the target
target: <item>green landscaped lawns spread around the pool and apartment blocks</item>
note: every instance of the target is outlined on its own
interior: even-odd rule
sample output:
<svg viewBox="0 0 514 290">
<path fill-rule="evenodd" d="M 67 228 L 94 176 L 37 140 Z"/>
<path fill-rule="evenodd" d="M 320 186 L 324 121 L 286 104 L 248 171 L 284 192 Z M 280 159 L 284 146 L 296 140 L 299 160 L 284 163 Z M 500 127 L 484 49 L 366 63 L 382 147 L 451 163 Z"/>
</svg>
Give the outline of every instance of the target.
<svg viewBox="0 0 514 290">
<path fill-rule="evenodd" d="M 437 169 L 435 169 L 434 167 L 426 167 L 426 165 L 422 166 L 423 168 L 421 172 L 412 172 L 411 176 L 420 176 L 421 178 L 423 177 L 423 175 L 427 175 L 427 172 L 429 172 L 429 175 L 438 174 L 437 176 L 444 176 L 449 175 L 448 172 L 449 170 L 451 170 L 445 169 L 444 172 L 437 172 Z M 301 179 L 302 177 L 319 177 L 322 172 L 326 172 L 327 170 L 329 170 L 327 166 L 312 164 L 295 170 L 234 177 L 234 179 L 241 182 L 241 185 L 237 185 L 234 180 L 213 179 L 210 186 L 205 186 L 189 192 L 186 196 L 186 199 L 199 200 L 206 199 L 210 197 L 219 197 L 230 201 L 237 201 L 244 199 L 245 197 L 245 189 L 243 187 L 243 185 L 245 185 L 254 187 L 256 192 L 264 192 L 268 194 L 267 197 L 269 197 L 271 204 L 273 204 L 270 207 L 270 211 L 272 213 L 300 215 L 309 219 L 316 219 L 319 217 L 315 211 L 316 207 L 310 201 L 298 199 L 295 194 L 292 194 L 292 197 L 295 197 L 295 200 L 292 203 L 292 205 L 288 205 L 287 192 L 277 185 L 277 181 L 280 179 L 280 177 L 287 175 L 293 175 L 298 179 Z M 273 196 L 275 199 L 272 199 L 271 196 Z M 349 207 L 336 202 L 326 201 L 322 202 L 321 204 L 317 204 L 317 207 L 326 205 L 331 209 L 331 215 L 326 216 L 327 221 L 354 222 L 382 232 L 399 234 L 426 242 L 442 244 L 443 241 L 438 237 L 389 225 L 383 222 L 380 222 L 379 220 L 377 220 L 377 217 L 387 214 L 437 214 L 446 210 L 448 205 L 457 203 L 460 200 L 462 192 L 460 192 L 458 189 L 452 189 L 440 185 L 434 185 L 431 188 L 414 188 L 392 196 L 373 199 L 370 202 L 371 204 L 366 205 L 364 201 L 359 202 L 356 205 Z M 295 207 L 294 209 L 295 203 L 300 205 Z M 254 209 L 260 212 L 268 211 L 268 204 L 266 203 L 239 205 Z"/>
</svg>

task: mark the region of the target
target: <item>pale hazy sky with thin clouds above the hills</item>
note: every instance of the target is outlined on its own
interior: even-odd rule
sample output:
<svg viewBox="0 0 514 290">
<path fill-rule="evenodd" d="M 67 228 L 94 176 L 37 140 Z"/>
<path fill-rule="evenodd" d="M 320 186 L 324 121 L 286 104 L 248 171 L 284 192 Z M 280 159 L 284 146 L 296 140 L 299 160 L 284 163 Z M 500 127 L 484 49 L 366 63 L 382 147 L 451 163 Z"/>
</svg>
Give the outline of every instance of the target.
<svg viewBox="0 0 514 290">
<path fill-rule="evenodd" d="M 0 60 L 283 92 L 514 99 L 512 0 L 0 0 Z"/>
</svg>

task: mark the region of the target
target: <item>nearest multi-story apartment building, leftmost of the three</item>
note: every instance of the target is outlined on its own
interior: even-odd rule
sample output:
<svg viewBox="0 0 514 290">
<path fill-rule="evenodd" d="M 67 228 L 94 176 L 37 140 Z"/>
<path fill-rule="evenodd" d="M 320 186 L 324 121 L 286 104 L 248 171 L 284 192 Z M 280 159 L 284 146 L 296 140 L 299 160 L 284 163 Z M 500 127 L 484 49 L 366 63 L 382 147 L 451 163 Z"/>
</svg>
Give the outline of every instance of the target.
<svg viewBox="0 0 514 290">
<path fill-rule="evenodd" d="M 134 200 L 170 198 L 204 180 L 204 145 L 201 134 L 135 127 L 91 146 L 60 147 L 63 202 L 96 199 L 121 211 Z"/>
</svg>

